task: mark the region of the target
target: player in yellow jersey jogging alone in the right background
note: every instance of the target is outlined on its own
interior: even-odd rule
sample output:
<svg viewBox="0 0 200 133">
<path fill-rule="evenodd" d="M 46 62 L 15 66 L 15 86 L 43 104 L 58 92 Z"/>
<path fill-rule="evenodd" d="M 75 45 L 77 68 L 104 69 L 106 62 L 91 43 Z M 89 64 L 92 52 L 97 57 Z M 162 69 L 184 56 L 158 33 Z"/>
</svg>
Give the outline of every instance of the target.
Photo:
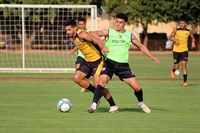
<svg viewBox="0 0 200 133">
<path fill-rule="evenodd" d="M 179 26 L 174 28 L 170 40 L 174 42 L 173 45 L 173 59 L 174 65 L 171 70 L 171 77 L 175 78 L 175 71 L 179 68 L 179 62 L 181 61 L 182 73 L 183 73 L 183 86 L 187 87 L 187 61 L 188 61 L 188 37 L 192 39 L 191 48 L 195 48 L 195 38 L 192 30 L 187 28 L 187 22 L 185 19 L 179 20 Z"/>
</svg>

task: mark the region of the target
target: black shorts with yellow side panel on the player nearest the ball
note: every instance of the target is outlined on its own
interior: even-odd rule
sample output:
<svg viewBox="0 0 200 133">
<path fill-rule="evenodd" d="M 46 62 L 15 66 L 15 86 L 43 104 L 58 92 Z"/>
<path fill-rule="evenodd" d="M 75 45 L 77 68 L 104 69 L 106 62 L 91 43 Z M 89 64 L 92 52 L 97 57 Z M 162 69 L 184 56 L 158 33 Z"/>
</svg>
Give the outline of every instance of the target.
<svg viewBox="0 0 200 133">
<path fill-rule="evenodd" d="M 84 61 L 83 63 L 80 64 L 80 67 L 77 69 L 87 75 L 91 74 L 97 74 L 100 75 L 101 70 L 103 68 L 103 64 L 104 64 L 104 59 L 103 57 L 94 61 L 94 62 L 87 62 Z"/>
</svg>

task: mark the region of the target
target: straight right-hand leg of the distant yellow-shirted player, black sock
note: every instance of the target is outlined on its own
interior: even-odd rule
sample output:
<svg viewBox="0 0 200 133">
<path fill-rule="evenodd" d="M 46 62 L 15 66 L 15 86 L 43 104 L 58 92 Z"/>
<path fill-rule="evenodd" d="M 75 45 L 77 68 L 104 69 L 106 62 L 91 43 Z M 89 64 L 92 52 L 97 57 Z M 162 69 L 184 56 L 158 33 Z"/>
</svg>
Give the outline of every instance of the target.
<svg viewBox="0 0 200 133">
<path fill-rule="evenodd" d="M 188 61 L 188 51 L 181 53 L 181 66 L 183 73 L 183 86 L 187 87 L 187 61 Z"/>
</svg>

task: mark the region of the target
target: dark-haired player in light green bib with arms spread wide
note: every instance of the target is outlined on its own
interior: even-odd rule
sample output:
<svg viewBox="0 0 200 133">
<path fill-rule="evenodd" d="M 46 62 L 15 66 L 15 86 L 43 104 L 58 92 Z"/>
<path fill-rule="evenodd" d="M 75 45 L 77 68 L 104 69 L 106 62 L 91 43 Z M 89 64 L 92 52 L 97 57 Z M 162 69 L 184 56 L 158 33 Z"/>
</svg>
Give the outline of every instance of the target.
<svg viewBox="0 0 200 133">
<path fill-rule="evenodd" d="M 105 42 L 105 46 L 109 49 L 109 52 L 104 55 L 106 60 L 100 75 L 99 84 L 94 92 L 93 103 L 87 109 L 89 113 L 93 113 L 96 110 L 96 105 L 102 96 L 102 91 L 108 81 L 112 79 L 113 74 L 117 75 L 120 80 L 127 83 L 134 90 L 135 96 L 138 100 L 138 106 L 145 113 L 151 113 L 151 110 L 143 102 L 142 88 L 140 87 L 134 72 L 129 68 L 128 59 L 130 43 L 135 44 L 154 62 L 159 63 L 159 60 L 155 58 L 132 33 L 124 29 L 127 22 L 128 17 L 123 13 L 119 13 L 116 16 L 115 29 L 104 29 L 91 33 L 94 36 L 108 37 L 108 40 Z M 109 110 L 109 112 L 112 113 L 117 111 L 117 106 L 113 106 Z"/>
</svg>

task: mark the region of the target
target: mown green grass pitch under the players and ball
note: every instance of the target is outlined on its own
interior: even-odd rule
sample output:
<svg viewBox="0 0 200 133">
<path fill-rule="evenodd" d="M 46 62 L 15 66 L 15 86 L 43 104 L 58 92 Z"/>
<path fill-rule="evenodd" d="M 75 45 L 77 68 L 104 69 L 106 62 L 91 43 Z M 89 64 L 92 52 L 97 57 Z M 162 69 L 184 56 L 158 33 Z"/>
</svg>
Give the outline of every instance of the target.
<svg viewBox="0 0 200 133">
<path fill-rule="evenodd" d="M 90 92 L 70 78 L 73 74 L 0 73 L 0 133 L 199 133 L 200 132 L 200 56 L 190 55 L 188 87 L 182 76 L 170 78 L 171 55 L 156 55 L 155 64 L 144 55 L 131 55 L 130 66 L 151 108 L 145 114 L 137 106 L 133 91 L 114 77 L 107 88 L 119 112 L 109 114 L 102 98 L 98 110 L 89 114 Z M 72 109 L 57 110 L 60 98 L 68 98 Z"/>
</svg>

